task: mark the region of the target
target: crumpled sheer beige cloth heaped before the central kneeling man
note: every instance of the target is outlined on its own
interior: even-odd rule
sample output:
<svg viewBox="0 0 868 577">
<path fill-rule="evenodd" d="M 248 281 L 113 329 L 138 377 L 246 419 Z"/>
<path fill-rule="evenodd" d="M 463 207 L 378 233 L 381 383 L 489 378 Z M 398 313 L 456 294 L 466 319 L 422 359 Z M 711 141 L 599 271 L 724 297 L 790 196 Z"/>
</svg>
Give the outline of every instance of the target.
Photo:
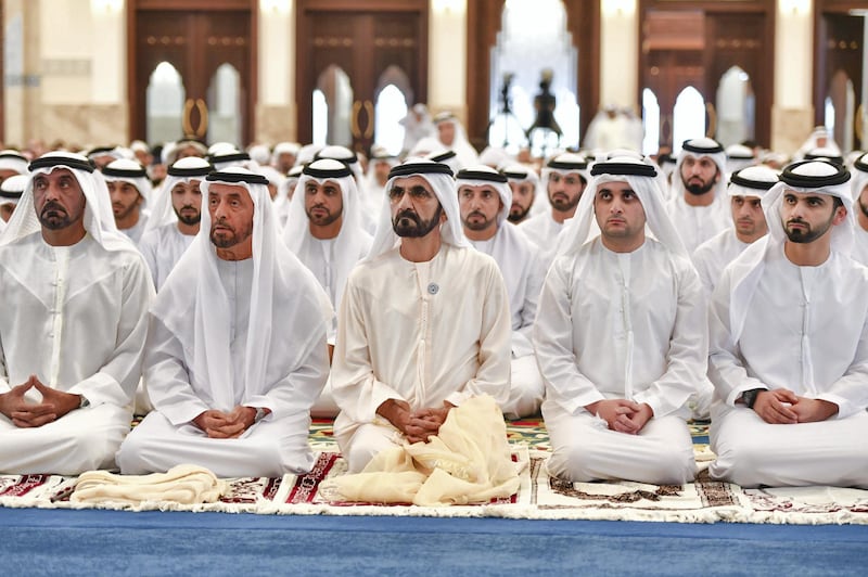
<svg viewBox="0 0 868 577">
<path fill-rule="evenodd" d="M 332 500 L 448 505 L 487 502 L 519 490 L 503 414 L 492 397 L 449 411 L 436 437 L 376 454 L 361 473 L 321 485 Z"/>
</svg>

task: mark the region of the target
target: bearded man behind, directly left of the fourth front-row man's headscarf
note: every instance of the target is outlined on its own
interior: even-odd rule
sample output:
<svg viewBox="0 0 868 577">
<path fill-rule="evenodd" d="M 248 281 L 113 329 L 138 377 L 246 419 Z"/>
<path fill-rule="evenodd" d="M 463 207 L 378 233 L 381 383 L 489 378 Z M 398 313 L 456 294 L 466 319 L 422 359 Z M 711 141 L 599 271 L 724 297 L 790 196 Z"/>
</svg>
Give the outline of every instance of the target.
<svg viewBox="0 0 868 577">
<path fill-rule="evenodd" d="M 542 169 L 542 182 L 551 206 L 521 223 L 521 230 L 539 247 L 546 265 L 554 257 L 554 245 L 564 220 L 573 218 L 578 200 L 588 183 L 588 162 L 584 156 L 563 153 Z"/>
</svg>

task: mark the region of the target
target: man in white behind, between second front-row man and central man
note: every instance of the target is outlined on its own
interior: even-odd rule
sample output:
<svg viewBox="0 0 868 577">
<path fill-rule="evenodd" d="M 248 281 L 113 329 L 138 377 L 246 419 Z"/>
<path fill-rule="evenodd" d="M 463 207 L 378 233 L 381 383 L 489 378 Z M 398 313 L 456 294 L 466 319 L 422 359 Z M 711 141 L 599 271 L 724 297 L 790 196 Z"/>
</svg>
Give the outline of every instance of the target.
<svg viewBox="0 0 868 577">
<path fill-rule="evenodd" d="M 302 171 L 298 193 L 290 202 L 283 240 L 317 278 L 335 310 L 353 267 L 371 248 L 361 226 L 362 206 L 349 167 L 331 158 L 315 161 Z M 329 328 L 329 358 L 337 328 Z M 335 416 L 337 406 L 327 383 L 314 405 L 317 416 Z"/>
</svg>

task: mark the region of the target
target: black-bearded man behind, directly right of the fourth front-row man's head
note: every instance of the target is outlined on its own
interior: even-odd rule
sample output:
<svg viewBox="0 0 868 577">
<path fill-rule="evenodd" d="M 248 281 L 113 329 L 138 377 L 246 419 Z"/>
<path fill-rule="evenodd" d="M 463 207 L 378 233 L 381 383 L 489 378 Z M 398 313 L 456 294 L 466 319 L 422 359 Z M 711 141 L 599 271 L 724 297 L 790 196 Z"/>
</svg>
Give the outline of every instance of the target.
<svg viewBox="0 0 868 577">
<path fill-rule="evenodd" d="M 686 140 L 672 178 L 669 218 L 688 253 L 729 227 L 726 152 L 710 138 Z"/>
</svg>

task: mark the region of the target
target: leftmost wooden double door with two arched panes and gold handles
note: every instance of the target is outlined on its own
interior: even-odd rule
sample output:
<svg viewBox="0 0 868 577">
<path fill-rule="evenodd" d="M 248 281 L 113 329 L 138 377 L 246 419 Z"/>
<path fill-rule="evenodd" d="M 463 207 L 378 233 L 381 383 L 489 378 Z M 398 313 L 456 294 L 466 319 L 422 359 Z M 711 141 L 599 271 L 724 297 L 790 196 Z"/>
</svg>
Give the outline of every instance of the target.
<svg viewBox="0 0 868 577">
<path fill-rule="evenodd" d="M 157 66 L 168 63 L 180 76 L 183 95 L 177 123 L 169 118 L 174 127 L 161 132 L 165 140 L 248 143 L 255 86 L 251 26 L 248 10 L 137 11 L 130 42 L 136 63 L 130 94 L 132 138 L 154 133 L 149 126 L 155 121 L 149 119 L 149 86 Z"/>
</svg>

